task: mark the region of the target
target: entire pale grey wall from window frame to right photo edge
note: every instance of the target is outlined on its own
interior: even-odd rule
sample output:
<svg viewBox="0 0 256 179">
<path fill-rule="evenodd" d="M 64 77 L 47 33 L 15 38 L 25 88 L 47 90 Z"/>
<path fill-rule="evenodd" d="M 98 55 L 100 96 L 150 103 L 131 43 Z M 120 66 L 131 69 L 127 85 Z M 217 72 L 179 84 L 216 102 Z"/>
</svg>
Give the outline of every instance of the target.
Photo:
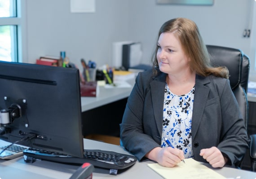
<svg viewBox="0 0 256 179">
<path fill-rule="evenodd" d="M 111 64 L 111 44 L 141 41 L 143 62 L 149 59 L 163 22 L 187 17 L 197 23 L 206 44 L 242 49 L 252 61 L 255 42 L 243 37 L 256 21 L 254 0 L 215 0 L 213 6 L 158 5 L 156 0 L 96 0 L 95 13 L 70 13 L 70 0 L 27 0 L 28 62 L 66 51 L 80 59 Z M 254 18 L 252 18 L 254 17 Z M 255 23 L 256 24 L 256 23 Z"/>
</svg>

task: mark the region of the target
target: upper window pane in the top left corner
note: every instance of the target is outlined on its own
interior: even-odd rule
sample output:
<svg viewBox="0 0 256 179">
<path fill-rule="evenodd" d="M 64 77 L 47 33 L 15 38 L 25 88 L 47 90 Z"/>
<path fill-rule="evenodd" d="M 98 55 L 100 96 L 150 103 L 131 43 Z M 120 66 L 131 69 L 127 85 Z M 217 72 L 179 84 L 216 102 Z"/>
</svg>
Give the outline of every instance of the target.
<svg viewBox="0 0 256 179">
<path fill-rule="evenodd" d="M 0 0 L 0 17 L 16 16 L 16 0 Z"/>
</svg>

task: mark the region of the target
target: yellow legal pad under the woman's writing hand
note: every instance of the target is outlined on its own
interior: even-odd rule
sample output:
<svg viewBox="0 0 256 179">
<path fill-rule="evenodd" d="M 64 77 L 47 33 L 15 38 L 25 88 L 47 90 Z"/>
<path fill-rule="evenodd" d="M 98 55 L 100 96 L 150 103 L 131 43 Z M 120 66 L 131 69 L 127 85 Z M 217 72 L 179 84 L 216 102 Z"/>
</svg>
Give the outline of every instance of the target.
<svg viewBox="0 0 256 179">
<path fill-rule="evenodd" d="M 214 170 L 204 166 L 193 158 L 187 158 L 175 167 L 164 167 L 158 163 L 148 164 L 148 166 L 161 175 L 164 179 L 226 179 Z"/>
</svg>

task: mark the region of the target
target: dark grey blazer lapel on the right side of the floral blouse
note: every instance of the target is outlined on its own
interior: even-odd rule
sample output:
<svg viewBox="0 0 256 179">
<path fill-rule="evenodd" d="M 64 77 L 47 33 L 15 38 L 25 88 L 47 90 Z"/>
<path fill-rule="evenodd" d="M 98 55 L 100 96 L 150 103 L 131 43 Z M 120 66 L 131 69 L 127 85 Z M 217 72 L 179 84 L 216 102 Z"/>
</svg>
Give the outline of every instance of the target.
<svg viewBox="0 0 256 179">
<path fill-rule="evenodd" d="M 206 83 L 210 83 L 208 78 L 196 76 L 195 90 L 194 90 L 194 104 L 192 114 L 192 140 L 196 135 L 199 127 L 199 123 L 202 119 L 203 110 L 207 102 L 207 96 L 210 89 L 205 86 Z"/>
</svg>

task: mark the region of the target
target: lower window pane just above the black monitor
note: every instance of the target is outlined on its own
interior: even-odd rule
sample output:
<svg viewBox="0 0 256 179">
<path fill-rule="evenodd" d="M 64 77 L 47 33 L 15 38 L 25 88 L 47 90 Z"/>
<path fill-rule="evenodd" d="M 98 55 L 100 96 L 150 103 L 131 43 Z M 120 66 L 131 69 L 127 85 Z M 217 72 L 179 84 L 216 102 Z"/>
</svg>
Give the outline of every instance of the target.
<svg viewBox="0 0 256 179">
<path fill-rule="evenodd" d="M 17 26 L 0 26 L 0 60 L 17 61 Z"/>
</svg>

